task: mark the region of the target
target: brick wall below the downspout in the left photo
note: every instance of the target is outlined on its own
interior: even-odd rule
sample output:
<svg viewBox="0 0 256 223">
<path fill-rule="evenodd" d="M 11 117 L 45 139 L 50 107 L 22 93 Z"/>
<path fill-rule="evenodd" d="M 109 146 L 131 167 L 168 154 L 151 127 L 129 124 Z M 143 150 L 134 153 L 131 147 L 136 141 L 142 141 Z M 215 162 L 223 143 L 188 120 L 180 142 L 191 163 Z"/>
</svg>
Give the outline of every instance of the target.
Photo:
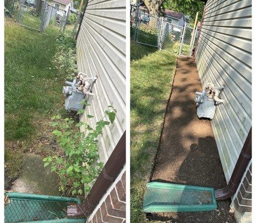
<svg viewBox="0 0 256 223">
<path fill-rule="evenodd" d="M 89 223 L 125 222 L 125 172 Z"/>
</svg>

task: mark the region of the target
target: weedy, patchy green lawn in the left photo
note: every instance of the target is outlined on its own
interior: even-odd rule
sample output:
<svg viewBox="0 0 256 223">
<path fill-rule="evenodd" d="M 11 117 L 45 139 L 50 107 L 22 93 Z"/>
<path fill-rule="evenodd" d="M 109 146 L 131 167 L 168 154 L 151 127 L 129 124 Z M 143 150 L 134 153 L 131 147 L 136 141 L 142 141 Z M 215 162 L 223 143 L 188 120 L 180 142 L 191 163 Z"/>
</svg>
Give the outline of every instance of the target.
<svg viewBox="0 0 256 223">
<path fill-rule="evenodd" d="M 65 77 L 57 75 L 51 61 L 56 52 L 55 38 L 7 18 L 4 37 L 5 172 L 16 178 L 23 154 L 36 153 L 35 149 L 44 144 L 38 137 L 48 137 L 51 115 L 63 110 L 61 87 Z"/>
</svg>

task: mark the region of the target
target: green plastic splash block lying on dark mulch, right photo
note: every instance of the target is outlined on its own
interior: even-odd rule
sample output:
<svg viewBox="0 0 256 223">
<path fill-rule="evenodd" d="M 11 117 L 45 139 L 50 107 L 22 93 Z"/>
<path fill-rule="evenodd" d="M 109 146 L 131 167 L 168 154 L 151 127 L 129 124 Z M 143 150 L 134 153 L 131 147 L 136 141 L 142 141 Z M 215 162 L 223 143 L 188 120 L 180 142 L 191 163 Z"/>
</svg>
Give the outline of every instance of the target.
<svg viewBox="0 0 256 223">
<path fill-rule="evenodd" d="M 147 183 L 144 212 L 211 211 L 217 208 L 214 188 L 173 183 Z"/>
</svg>

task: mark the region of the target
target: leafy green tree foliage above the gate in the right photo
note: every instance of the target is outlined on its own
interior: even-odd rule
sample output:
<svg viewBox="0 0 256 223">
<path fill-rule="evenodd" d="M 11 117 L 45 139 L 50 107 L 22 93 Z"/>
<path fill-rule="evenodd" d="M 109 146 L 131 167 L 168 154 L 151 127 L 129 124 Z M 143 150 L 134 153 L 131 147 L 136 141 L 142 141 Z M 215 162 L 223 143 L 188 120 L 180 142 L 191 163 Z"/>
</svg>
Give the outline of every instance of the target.
<svg viewBox="0 0 256 223">
<path fill-rule="evenodd" d="M 198 20 L 202 18 L 204 11 L 204 2 L 200 0 L 165 0 L 162 4 L 163 9 L 170 9 L 181 12 L 190 17 L 190 21 L 194 22 L 196 12 L 199 12 Z"/>
</svg>

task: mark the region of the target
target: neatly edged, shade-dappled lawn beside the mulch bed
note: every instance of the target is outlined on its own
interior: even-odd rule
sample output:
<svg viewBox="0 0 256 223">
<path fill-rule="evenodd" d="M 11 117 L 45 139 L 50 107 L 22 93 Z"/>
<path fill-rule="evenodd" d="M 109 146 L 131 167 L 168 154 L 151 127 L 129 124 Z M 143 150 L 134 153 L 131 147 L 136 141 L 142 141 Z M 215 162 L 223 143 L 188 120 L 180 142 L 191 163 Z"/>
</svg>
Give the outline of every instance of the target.
<svg viewBox="0 0 256 223">
<path fill-rule="evenodd" d="M 142 201 L 160 140 L 176 56 L 131 41 L 131 222 L 146 222 Z"/>
</svg>

